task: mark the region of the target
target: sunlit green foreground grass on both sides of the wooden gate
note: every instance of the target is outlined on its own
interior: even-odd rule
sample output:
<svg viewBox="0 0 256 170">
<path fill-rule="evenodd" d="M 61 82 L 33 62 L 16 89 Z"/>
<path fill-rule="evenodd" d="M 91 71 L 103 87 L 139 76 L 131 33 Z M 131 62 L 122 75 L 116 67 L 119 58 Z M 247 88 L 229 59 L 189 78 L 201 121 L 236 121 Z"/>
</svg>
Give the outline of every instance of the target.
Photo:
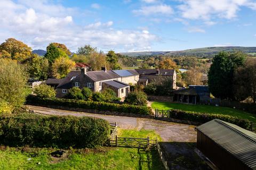
<svg viewBox="0 0 256 170">
<path fill-rule="evenodd" d="M 119 136 L 159 137 L 155 131 L 119 130 Z M 68 149 L 61 158 L 53 148 L 0 147 L 0 169 L 163 169 L 155 149 Z"/>
</svg>

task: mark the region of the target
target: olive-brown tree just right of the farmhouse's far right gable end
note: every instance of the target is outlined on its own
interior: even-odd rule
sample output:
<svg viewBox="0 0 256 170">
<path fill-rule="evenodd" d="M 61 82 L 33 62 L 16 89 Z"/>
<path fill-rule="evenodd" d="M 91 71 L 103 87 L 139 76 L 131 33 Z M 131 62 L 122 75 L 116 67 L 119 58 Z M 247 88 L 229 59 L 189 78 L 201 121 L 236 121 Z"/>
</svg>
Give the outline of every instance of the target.
<svg viewBox="0 0 256 170">
<path fill-rule="evenodd" d="M 201 81 L 203 74 L 199 72 L 196 68 L 193 70 L 188 70 L 184 73 L 184 81 L 187 85 L 202 85 Z"/>
</svg>

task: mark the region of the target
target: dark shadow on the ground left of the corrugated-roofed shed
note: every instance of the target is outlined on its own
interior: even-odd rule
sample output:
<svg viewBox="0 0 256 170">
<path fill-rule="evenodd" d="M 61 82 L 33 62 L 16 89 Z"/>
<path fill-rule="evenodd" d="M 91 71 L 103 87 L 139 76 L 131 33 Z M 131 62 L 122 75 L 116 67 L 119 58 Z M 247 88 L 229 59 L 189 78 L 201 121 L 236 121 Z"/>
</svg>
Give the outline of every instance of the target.
<svg viewBox="0 0 256 170">
<path fill-rule="evenodd" d="M 211 169 L 194 151 L 195 142 L 159 142 L 170 169 Z"/>
</svg>

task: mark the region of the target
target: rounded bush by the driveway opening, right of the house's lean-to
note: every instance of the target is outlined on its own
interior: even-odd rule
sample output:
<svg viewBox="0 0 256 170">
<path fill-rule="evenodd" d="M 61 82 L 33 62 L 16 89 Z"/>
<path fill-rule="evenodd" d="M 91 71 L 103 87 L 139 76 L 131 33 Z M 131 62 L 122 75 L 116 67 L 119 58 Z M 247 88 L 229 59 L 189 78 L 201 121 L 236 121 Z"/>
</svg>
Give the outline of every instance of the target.
<svg viewBox="0 0 256 170">
<path fill-rule="evenodd" d="M 125 97 L 124 102 L 132 105 L 147 106 L 147 95 L 142 91 L 130 92 Z"/>
</svg>

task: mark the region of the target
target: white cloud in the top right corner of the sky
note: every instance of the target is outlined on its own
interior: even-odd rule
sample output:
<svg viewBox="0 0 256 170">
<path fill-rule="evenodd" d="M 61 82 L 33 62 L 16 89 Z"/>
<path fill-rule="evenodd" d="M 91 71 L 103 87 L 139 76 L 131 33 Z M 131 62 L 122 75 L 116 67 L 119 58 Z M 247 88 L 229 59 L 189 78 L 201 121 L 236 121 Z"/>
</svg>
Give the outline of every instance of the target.
<svg viewBox="0 0 256 170">
<path fill-rule="evenodd" d="M 181 15 L 186 19 L 210 20 L 213 17 L 233 19 L 242 6 L 256 9 L 251 0 L 181 0 Z"/>
</svg>

